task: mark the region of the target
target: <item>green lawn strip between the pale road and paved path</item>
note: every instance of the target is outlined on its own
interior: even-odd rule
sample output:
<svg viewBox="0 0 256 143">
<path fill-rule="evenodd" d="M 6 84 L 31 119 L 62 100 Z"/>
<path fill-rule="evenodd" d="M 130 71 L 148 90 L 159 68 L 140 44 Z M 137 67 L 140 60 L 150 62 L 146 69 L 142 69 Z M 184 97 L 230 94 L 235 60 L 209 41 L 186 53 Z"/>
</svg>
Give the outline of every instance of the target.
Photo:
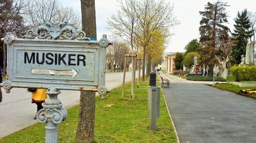
<svg viewBox="0 0 256 143">
<path fill-rule="evenodd" d="M 150 131 L 150 119 L 147 118 L 148 84 L 149 81 L 141 82 L 141 88 L 135 88 L 135 100 L 130 99 L 130 83 L 126 84 L 125 98 L 121 98 L 121 86 L 113 89 L 104 100 L 96 97 L 95 142 L 176 142 L 163 95 L 157 130 Z M 59 142 L 75 142 L 79 108 L 77 105 L 67 110 L 68 118 L 61 122 L 58 130 Z M 45 142 L 44 126 L 42 123 L 34 124 L 3 137 L 0 142 Z"/>
</svg>

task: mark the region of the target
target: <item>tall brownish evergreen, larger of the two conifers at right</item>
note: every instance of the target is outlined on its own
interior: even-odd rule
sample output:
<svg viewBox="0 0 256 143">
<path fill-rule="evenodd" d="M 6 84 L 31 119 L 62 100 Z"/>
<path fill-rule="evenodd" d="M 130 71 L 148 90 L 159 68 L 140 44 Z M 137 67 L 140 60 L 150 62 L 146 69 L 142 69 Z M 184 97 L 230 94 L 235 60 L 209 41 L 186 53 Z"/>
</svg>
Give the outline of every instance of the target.
<svg viewBox="0 0 256 143">
<path fill-rule="evenodd" d="M 209 66 L 209 74 L 213 74 L 214 64 L 219 64 L 221 57 L 221 47 L 228 41 L 230 32 L 225 26 L 228 23 L 226 8 L 227 3 L 217 1 L 208 2 L 205 11 L 199 12 L 202 17 L 200 21 L 200 42 L 203 43 L 200 64 Z"/>
</svg>

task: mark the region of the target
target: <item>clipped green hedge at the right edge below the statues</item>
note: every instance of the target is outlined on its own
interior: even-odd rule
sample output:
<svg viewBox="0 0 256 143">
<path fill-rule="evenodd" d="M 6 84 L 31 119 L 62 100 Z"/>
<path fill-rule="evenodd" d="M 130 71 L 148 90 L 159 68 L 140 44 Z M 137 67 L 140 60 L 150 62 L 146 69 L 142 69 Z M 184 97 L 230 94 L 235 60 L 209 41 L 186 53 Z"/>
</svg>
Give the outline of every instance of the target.
<svg viewBox="0 0 256 143">
<path fill-rule="evenodd" d="M 256 81 L 256 66 L 230 68 L 235 81 Z"/>
</svg>

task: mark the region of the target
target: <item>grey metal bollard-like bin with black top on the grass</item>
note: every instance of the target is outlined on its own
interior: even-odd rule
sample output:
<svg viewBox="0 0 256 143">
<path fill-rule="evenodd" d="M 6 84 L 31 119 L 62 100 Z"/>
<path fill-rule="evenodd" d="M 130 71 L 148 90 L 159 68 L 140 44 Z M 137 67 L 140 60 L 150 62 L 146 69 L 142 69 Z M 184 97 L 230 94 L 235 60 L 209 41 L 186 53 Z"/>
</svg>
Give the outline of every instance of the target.
<svg viewBox="0 0 256 143">
<path fill-rule="evenodd" d="M 151 130 L 156 130 L 156 120 L 160 117 L 160 86 L 156 86 L 156 72 L 149 74 L 147 88 L 148 115 L 151 119 Z"/>
</svg>

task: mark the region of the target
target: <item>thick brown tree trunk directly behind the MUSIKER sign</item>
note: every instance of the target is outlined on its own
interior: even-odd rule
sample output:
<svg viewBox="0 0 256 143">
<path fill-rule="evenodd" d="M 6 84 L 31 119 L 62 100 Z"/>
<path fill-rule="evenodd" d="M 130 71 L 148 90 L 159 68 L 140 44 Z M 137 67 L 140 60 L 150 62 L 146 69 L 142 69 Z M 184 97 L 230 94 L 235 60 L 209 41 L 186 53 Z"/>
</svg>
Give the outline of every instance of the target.
<svg viewBox="0 0 256 143">
<path fill-rule="evenodd" d="M 86 37 L 96 40 L 95 1 L 81 0 L 82 29 Z M 95 92 L 81 91 L 80 114 L 76 132 L 77 142 L 93 142 L 95 118 Z"/>
</svg>

